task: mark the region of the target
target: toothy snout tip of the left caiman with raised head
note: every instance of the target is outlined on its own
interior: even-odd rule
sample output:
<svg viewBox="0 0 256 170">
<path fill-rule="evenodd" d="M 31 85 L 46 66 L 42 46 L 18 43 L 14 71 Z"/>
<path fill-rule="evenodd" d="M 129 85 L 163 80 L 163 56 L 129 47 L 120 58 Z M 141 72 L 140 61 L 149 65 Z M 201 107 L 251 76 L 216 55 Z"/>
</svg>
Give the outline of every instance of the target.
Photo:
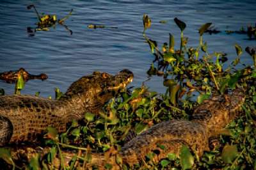
<svg viewBox="0 0 256 170">
<path fill-rule="evenodd" d="M 130 70 L 122 70 L 118 74 L 114 76 L 114 79 L 112 81 L 112 85 L 108 87 L 108 90 L 117 90 L 117 89 L 123 89 L 132 82 L 133 79 L 133 73 Z"/>
</svg>

